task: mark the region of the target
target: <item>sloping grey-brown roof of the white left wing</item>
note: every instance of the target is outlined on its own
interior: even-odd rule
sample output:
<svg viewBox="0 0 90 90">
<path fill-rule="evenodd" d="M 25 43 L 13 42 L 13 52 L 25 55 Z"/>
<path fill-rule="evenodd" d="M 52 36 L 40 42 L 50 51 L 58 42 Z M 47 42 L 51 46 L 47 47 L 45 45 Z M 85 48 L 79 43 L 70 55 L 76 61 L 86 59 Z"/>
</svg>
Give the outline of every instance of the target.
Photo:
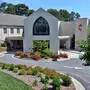
<svg viewBox="0 0 90 90">
<path fill-rule="evenodd" d="M 14 25 L 24 26 L 25 16 L 12 15 L 12 14 L 0 14 L 0 25 Z"/>
</svg>

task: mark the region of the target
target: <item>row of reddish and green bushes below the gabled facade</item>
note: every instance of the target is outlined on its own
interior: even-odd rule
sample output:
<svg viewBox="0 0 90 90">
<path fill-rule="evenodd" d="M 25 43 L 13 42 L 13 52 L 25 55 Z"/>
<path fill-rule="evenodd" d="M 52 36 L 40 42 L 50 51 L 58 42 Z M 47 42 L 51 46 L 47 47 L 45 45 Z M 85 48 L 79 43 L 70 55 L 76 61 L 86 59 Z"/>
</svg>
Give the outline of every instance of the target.
<svg viewBox="0 0 90 90">
<path fill-rule="evenodd" d="M 59 58 L 68 58 L 66 53 L 52 53 L 49 49 L 45 49 L 42 52 L 27 52 L 24 53 L 22 51 L 16 52 L 16 56 L 20 56 L 20 58 L 32 58 L 36 61 L 40 60 L 41 58 L 53 58 L 54 61 L 57 61 Z"/>
</svg>

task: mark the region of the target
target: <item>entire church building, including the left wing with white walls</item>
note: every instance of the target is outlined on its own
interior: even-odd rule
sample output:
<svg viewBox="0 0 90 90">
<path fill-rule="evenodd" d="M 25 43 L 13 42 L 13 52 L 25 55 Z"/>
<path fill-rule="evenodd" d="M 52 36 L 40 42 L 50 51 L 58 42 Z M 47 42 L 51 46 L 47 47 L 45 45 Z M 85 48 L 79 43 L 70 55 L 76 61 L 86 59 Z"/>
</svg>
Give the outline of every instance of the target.
<svg viewBox="0 0 90 90">
<path fill-rule="evenodd" d="M 79 42 L 87 40 L 90 21 L 60 21 L 40 8 L 29 17 L 0 14 L 0 44 L 5 40 L 10 48 L 29 52 L 34 40 L 47 40 L 50 50 L 79 50 Z"/>
</svg>

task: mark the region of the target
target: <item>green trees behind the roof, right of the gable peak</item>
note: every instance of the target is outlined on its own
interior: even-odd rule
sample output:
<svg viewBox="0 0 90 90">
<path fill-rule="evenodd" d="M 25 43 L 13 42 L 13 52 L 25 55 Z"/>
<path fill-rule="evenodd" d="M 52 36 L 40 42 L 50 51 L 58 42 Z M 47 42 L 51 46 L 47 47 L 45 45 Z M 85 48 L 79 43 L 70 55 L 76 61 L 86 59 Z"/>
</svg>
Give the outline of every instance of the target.
<svg viewBox="0 0 90 90">
<path fill-rule="evenodd" d="M 65 9 L 60 9 L 60 10 L 56 10 L 56 9 L 48 9 L 47 10 L 50 14 L 54 15 L 56 18 L 58 18 L 59 20 L 62 21 L 74 21 L 76 19 L 80 18 L 80 14 L 77 12 L 68 12 Z"/>
</svg>

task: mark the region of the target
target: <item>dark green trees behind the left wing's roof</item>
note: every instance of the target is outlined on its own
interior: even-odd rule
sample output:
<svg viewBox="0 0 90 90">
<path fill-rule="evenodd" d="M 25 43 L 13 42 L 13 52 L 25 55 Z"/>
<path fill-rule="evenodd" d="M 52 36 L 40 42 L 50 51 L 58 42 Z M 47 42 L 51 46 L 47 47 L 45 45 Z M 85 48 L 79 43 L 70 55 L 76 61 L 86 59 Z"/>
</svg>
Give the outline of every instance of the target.
<svg viewBox="0 0 90 90">
<path fill-rule="evenodd" d="M 34 12 L 34 10 L 29 9 L 29 7 L 25 4 L 14 5 L 11 3 L 3 2 L 0 5 L 0 12 L 21 16 L 29 16 Z"/>
</svg>

